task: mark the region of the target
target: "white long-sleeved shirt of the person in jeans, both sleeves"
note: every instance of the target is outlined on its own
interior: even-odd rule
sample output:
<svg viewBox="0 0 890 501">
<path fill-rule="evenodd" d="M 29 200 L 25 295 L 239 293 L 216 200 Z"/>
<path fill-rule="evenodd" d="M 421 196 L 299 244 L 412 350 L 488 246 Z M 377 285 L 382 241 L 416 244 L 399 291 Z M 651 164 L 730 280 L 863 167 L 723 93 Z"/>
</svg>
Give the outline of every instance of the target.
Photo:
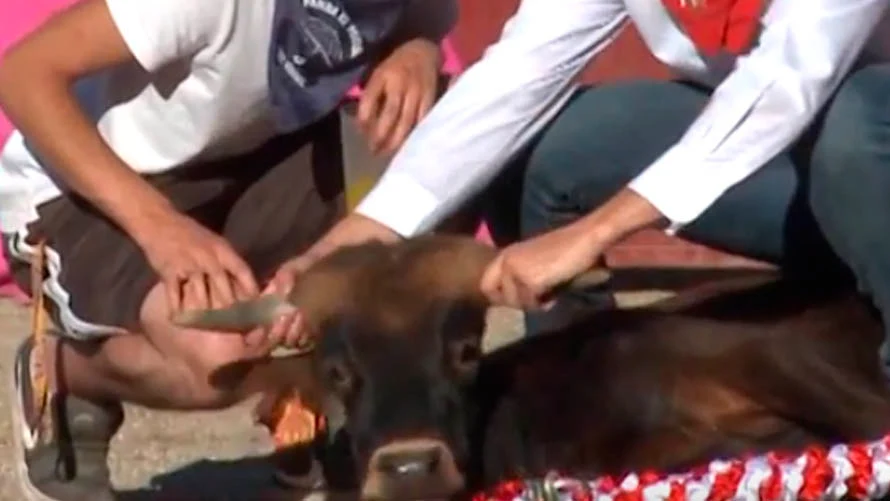
<svg viewBox="0 0 890 501">
<path fill-rule="evenodd" d="M 522 0 L 356 210 L 404 236 L 442 221 L 546 125 L 630 19 L 656 58 L 715 89 L 682 138 L 629 185 L 679 228 L 791 145 L 860 56 L 890 61 L 887 5 L 773 0 L 756 46 L 736 58 L 701 56 L 658 0 Z"/>
</svg>

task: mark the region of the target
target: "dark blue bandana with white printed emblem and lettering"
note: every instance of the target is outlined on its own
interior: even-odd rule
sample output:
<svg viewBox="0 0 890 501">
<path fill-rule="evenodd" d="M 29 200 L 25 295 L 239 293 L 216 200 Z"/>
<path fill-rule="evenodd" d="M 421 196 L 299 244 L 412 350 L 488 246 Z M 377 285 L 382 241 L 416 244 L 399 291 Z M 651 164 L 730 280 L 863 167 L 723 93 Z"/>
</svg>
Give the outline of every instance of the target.
<svg viewBox="0 0 890 501">
<path fill-rule="evenodd" d="M 275 0 L 269 94 L 282 132 L 333 111 L 393 33 L 404 0 Z"/>
</svg>

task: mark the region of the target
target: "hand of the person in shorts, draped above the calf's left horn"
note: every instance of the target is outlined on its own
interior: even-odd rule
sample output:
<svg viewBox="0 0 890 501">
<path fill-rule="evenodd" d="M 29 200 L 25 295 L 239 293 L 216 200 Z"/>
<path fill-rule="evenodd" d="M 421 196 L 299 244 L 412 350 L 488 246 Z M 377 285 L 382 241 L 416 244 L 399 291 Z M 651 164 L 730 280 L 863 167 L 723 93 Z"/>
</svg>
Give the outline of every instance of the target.
<svg viewBox="0 0 890 501">
<path fill-rule="evenodd" d="M 229 243 L 187 216 L 157 221 L 140 247 L 164 283 L 170 313 L 222 308 L 259 292 L 250 267 Z"/>
</svg>

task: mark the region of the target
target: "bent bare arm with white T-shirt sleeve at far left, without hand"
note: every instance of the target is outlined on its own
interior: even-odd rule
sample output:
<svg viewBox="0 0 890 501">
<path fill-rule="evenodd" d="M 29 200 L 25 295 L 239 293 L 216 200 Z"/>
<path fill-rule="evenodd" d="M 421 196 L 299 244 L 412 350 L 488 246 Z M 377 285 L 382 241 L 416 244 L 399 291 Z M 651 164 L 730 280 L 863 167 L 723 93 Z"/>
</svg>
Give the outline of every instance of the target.
<svg viewBox="0 0 890 501">
<path fill-rule="evenodd" d="M 229 2 L 84 0 L 54 16 L 0 63 L 0 105 L 71 189 L 135 239 L 169 202 L 123 163 L 77 103 L 78 78 L 134 59 L 146 70 L 210 43 Z M 215 12 L 208 15 L 207 12 Z"/>
</svg>

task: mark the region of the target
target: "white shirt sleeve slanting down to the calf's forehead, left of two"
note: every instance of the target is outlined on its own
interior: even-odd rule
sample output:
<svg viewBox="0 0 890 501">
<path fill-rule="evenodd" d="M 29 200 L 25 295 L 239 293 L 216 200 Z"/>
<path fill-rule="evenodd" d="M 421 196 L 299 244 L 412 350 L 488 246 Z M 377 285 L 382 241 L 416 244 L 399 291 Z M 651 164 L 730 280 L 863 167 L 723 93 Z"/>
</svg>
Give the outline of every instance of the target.
<svg viewBox="0 0 890 501">
<path fill-rule="evenodd" d="M 498 42 L 418 124 L 356 211 L 404 236 L 488 184 L 565 104 L 619 32 L 622 0 L 524 0 Z"/>
</svg>

